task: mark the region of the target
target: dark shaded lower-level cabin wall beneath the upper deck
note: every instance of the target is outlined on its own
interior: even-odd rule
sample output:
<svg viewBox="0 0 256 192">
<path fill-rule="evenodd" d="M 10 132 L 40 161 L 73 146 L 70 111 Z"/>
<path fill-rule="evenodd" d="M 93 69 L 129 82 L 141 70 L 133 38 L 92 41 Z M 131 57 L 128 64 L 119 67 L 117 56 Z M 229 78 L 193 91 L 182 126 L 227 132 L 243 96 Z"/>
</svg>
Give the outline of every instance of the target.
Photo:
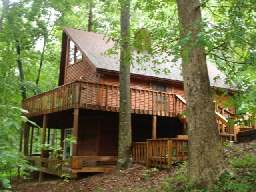
<svg viewBox="0 0 256 192">
<path fill-rule="evenodd" d="M 132 142 L 152 138 L 152 115 L 132 114 Z M 80 110 L 77 156 L 118 156 L 118 112 L 89 112 Z M 157 116 L 157 138 L 182 134 L 178 118 Z M 86 162 L 84 165 L 95 165 Z"/>
</svg>

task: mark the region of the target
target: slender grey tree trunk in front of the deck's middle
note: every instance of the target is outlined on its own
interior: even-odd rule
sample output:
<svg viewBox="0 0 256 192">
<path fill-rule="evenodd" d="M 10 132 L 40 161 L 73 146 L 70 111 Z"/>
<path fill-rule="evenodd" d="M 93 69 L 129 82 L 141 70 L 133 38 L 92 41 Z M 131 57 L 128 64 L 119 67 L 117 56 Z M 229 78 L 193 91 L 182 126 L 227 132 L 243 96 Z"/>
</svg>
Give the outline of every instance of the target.
<svg viewBox="0 0 256 192">
<path fill-rule="evenodd" d="M 132 165 L 131 98 L 130 98 L 130 52 L 129 52 L 129 9 L 130 0 L 121 2 L 121 51 L 120 51 L 120 108 L 118 161 L 116 170 L 130 168 Z"/>
</svg>

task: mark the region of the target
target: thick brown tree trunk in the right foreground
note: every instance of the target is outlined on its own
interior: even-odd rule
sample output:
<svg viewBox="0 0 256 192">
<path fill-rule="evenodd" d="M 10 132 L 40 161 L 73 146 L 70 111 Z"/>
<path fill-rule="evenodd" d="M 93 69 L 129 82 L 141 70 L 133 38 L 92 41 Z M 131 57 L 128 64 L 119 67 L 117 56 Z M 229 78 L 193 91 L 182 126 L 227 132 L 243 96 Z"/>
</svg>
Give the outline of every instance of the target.
<svg viewBox="0 0 256 192">
<path fill-rule="evenodd" d="M 231 169 L 216 124 L 204 46 L 195 45 L 201 27 L 200 2 L 176 1 L 182 26 L 180 40 L 191 35 L 190 42 L 181 46 L 189 138 L 187 182 L 211 191 L 220 174 L 231 172 Z"/>
</svg>

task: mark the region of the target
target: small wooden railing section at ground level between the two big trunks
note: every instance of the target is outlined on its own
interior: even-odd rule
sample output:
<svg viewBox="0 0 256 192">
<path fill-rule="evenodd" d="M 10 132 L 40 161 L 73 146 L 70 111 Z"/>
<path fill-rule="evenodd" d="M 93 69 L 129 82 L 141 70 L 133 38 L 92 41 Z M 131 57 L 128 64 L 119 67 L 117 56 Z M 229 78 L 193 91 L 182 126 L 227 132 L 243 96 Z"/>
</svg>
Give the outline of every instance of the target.
<svg viewBox="0 0 256 192">
<path fill-rule="evenodd" d="M 170 167 L 174 162 L 188 159 L 188 139 L 148 139 L 132 146 L 135 161 L 147 167 Z"/>
</svg>

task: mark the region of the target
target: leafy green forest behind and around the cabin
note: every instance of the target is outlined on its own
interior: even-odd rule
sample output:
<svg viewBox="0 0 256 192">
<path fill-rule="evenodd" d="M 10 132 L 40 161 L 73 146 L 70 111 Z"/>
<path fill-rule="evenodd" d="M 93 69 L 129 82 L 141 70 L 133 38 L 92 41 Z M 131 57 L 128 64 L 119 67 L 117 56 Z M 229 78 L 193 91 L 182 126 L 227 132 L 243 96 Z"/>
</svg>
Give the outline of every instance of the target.
<svg viewBox="0 0 256 192">
<path fill-rule="evenodd" d="M 4 185 L 9 185 L 17 167 L 26 168 L 18 148 L 20 122 L 26 121 L 20 116 L 22 99 L 58 86 L 62 26 L 119 36 L 117 4 L 118 0 L 0 1 L 0 181 Z M 227 75 L 226 83 L 241 90 L 230 104 L 238 112 L 255 112 L 256 1 L 202 0 L 200 8 L 198 43 L 205 46 L 208 61 Z M 150 50 L 152 55 L 170 50 L 179 58 L 180 46 L 191 37 L 178 41 L 177 12 L 173 0 L 133 0 L 131 36 L 145 28 L 151 43 L 161 46 Z"/>
</svg>

